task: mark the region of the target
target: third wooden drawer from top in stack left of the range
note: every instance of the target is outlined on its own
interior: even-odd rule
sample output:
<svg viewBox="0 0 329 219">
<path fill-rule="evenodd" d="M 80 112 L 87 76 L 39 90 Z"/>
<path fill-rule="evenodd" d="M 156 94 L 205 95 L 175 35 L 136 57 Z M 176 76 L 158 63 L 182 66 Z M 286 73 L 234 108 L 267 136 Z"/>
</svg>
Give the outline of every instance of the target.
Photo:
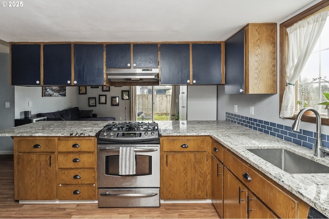
<svg viewBox="0 0 329 219">
<path fill-rule="evenodd" d="M 59 169 L 59 184 L 95 184 L 95 169 Z"/>
</svg>

